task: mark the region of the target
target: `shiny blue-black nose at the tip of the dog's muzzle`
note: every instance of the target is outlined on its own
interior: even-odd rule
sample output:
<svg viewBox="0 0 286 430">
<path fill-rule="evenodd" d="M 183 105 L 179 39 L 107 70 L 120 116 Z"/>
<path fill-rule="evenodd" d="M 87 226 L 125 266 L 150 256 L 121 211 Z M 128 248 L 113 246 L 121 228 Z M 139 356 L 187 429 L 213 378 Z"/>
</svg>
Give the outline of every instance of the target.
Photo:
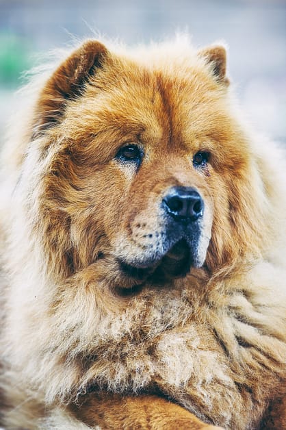
<svg viewBox="0 0 286 430">
<path fill-rule="evenodd" d="M 204 202 L 194 188 L 171 188 L 164 197 L 163 204 L 168 214 L 178 221 L 196 221 L 203 216 Z"/>
</svg>

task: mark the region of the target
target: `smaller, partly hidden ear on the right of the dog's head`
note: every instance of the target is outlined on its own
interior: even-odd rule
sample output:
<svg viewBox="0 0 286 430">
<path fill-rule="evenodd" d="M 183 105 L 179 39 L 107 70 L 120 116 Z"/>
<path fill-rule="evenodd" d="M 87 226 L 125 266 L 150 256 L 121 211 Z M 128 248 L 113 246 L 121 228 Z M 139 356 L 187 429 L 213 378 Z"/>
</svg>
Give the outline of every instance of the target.
<svg viewBox="0 0 286 430">
<path fill-rule="evenodd" d="M 229 79 L 226 77 L 226 50 L 220 45 L 207 47 L 198 52 L 200 57 L 205 58 L 207 63 L 213 67 L 213 75 L 219 82 L 228 86 Z"/>
</svg>

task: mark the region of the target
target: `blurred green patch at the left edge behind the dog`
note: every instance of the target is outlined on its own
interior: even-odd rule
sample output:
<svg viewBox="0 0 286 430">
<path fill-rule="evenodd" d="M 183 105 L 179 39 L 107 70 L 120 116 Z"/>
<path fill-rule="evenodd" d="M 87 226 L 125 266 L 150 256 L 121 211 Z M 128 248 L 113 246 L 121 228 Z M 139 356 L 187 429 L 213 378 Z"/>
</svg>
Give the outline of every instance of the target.
<svg viewBox="0 0 286 430">
<path fill-rule="evenodd" d="M 23 71 L 31 68 L 31 43 L 14 34 L 0 33 L 0 86 L 15 88 Z"/>
</svg>

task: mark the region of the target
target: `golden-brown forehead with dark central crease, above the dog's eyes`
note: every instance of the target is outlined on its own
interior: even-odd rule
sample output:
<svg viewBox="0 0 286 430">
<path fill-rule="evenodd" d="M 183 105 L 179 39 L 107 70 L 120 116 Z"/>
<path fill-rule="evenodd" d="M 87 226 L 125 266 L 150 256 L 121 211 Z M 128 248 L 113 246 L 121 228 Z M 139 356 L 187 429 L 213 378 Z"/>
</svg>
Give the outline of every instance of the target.
<svg viewBox="0 0 286 430">
<path fill-rule="evenodd" d="M 154 144 L 172 140 L 182 146 L 220 127 L 223 100 L 218 85 L 202 71 L 178 68 L 174 74 L 173 69 L 129 64 L 111 77 L 95 76 L 66 118 L 77 135 L 103 132 L 111 140 L 140 136 Z"/>
</svg>

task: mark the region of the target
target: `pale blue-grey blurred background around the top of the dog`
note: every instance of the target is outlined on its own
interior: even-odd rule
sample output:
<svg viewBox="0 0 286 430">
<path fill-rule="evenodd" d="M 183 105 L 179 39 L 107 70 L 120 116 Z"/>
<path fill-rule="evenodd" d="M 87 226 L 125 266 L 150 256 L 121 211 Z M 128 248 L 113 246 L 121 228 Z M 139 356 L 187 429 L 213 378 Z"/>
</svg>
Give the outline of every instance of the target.
<svg viewBox="0 0 286 430">
<path fill-rule="evenodd" d="M 189 31 L 229 45 L 229 75 L 255 127 L 286 142 L 286 0 L 0 0 L 0 143 L 23 71 L 92 30 L 130 45 Z"/>
</svg>

